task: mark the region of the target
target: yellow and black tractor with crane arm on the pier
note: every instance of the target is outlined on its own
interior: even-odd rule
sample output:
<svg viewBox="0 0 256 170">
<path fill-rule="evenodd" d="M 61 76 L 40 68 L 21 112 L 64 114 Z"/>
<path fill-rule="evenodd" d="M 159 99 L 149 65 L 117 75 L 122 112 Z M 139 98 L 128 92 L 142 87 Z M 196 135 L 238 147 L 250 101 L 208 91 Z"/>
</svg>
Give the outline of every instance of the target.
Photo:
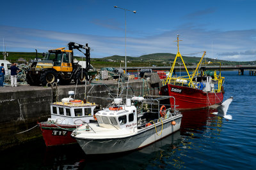
<svg viewBox="0 0 256 170">
<path fill-rule="evenodd" d="M 86 57 L 86 66 L 82 67 L 74 60 L 73 50 L 77 49 Z M 37 53 L 37 52 L 36 52 Z M 37 54 L 36 54 L 37 55 Z M 70 83 L 74 80 L 77 84 L 82 84 L 85 80 L 92 81 L 97 74 L 90 64 L 90 47 L 80 45 L 74 42 L 68 43 L 68 50 L 64 48 L 56 48 L 43 53 L 44 60 L 33 61 L 29 69 L 26 71 L 26 80 L 29 85 L 47 85 L 54 83 L 58 79 L 61 85 Z"/>
</svg>

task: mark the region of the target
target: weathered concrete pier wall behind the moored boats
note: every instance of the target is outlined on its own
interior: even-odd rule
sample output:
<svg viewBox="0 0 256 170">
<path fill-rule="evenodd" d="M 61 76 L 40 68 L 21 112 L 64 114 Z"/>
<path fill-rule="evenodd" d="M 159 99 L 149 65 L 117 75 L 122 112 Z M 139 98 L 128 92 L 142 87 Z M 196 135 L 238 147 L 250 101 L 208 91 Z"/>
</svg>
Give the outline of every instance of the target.
<svg viewBox="0 0 256 170">
<path fill-rule="evenodd" d="M 93 97 L 109 97 L 109 90 L 104 85 L 108 85 L 109 90 L 116 94 L 118 82 L 114 80 L 95 81 L 95 84 L 86 86 L 86 90 L 90 91 L 88 96 Z M 129 86 L 135 92 L 135 95 L 156 95 L 158 88 L 151 88 L 147 80 L 129 81 Z M 127 83 L 120 83 L 120 88 L 127 87 Z M 84 85 L 63 85 L 56 87 L 36 87 L 22 85 L 19 87 L 3 87 L 0 89 L 0 148 L 6 148 L 29 139 L 41 136 L 39 127 L 35 127 L 36 122 L 46 121 L 51 117 L 50 104 L 58 99 L 60 101 L 64 97 L 68 97 L 68 91 L 76 91 L 76 99 L 84 99 Z M 131 94 L 131 90 L 128 90 Z M 126 90 L 124 91 L 126 94 Z M 105 99 L 88 97 L 88 101 L 92 101 L 100 106 L 107 106 L 111 101 Z M 28 132 L 23 132 L 31 129 Z M 21 134 L 17 134 L 23 132 Z"/>
</svg>

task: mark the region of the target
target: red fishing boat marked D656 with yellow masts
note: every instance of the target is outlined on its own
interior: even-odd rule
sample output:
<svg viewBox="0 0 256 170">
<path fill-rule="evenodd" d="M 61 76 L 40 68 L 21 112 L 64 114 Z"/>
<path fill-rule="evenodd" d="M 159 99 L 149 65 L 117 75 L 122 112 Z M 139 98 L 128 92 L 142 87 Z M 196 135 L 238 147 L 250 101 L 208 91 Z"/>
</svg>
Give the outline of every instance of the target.
<svg viewBox="0 0 256 170">
<path fill-rule="evenodd" d="M 195 71 L 189 74 L 188 69 L 182 55 L 179 52 L 179 36 L 177 36 L 178 52 L 172 64 L 170 74 L 164 81 L 159 94 L 161 96 L 175 97 L 178 110 L 193 110 L 199 108 L 208 108 L 214 104 L 220 104 L 223 101 L 223 83 L 225 78 L 221 77 L 221 64 L 213 62 L 202 62 L 205 53 L 198 62 Z M 180 58 L 186 69 L 186 76 L 173 75 L 175 62 Z M 220 69 L 214 71 L 206 71 L 206 65 L 220 65 Z M 218 73 L 218 74 L 217 74 Z M 170 104 L 173 107 L 174 102 L 170 99 Z"/>
</svg>

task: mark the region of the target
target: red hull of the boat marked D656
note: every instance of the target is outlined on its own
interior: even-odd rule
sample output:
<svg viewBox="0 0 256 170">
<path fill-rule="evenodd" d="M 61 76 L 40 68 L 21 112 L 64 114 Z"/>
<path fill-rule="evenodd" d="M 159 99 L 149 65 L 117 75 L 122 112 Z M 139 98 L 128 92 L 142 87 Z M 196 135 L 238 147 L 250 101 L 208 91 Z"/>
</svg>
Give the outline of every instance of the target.
<svg viewBox="0 0 256 170">
<path fill-rule="evenodd" d="M 223 93 L 203 92 L 202 90 L 193 89 L 190 87 L 182 87 L 178 85 L 165 85 L 161 87 L 161 96 L 175 97 L 177 110 L 194 110 L 199 108 L 207 108 L 214 104 L 220 104 L 223 101 Z M 174 105 L 173 99 L 170 99 L 170 104 Z"/>
</svg>

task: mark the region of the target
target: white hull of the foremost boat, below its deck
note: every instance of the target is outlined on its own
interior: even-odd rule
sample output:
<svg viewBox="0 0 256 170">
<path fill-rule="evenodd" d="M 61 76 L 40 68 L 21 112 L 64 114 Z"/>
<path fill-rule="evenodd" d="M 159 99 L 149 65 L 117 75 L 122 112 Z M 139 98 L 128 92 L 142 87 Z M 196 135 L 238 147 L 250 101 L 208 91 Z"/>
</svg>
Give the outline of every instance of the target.
<svg viewBox="0 0 256 170">
<path fill-rule="evenodd" d="M 161 130 L 162 124 L 160 121 L 156 124 L 156 128 L 154 124 L 152 124 L 143 130 L 138 129 L 138 131 L 132 133 L 131 136 L 124 138 L 75 138 L 86 154 L 129 152 L 131 150 L 143 148 L 156 141 L 159 141 L 160 139 L 172 134 L 175 131 L 179 131 L 181 118 L 182 115 L 175 118 L 175 125 L 172 125 L 172 119 L 163 120 L 163 130 Z"/>
</svg>

